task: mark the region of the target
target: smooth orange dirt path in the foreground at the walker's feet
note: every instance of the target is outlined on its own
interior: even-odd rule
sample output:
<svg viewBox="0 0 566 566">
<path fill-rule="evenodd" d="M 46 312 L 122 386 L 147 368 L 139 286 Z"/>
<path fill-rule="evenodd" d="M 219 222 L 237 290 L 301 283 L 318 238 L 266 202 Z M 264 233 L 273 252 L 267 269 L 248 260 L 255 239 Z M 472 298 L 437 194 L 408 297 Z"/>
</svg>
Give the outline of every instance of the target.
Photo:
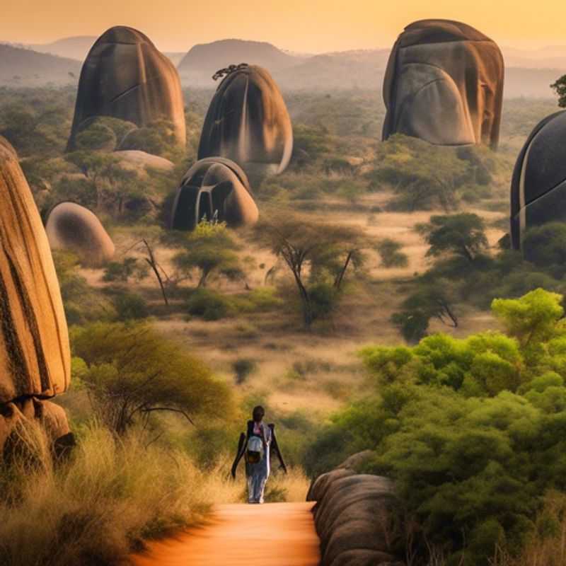
<svg viewBox="0 0 566 566">
<path fill-rule="evenodd" d="M 151 543 L 134 565 L 318 566 L 312 505 L 219 505 L 210 524 Z"/>
</svg>

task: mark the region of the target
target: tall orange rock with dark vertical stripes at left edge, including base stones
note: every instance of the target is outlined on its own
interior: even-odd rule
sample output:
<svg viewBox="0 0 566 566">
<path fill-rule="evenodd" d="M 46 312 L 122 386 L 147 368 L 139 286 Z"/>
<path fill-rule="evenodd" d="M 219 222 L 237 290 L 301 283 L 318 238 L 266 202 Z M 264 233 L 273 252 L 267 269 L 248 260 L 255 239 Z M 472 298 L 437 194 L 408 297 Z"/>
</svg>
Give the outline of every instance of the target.
<svg viewBox="0 0 566 566">
<path fill-rule="evenodd" d="M 0 137 L 0 451 L 22 420 L 52 439 L 69 434 L 62 409 L 45 402 L 69 387 L 67 321 L 51 251 L 28 183 Z"/>
</svg>

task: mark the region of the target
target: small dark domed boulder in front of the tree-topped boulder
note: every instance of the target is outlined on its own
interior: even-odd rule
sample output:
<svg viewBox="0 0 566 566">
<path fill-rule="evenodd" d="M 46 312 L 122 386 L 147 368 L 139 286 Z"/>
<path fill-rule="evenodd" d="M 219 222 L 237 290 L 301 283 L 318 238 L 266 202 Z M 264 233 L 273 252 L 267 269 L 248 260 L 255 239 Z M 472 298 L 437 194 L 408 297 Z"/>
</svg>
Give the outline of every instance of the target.
<svg viewBox="0 0 566 566">
<path fill-rule="evenodd" d="M 248 177 L 229 159 L 201 159 L 187 171 L 173 201 L 171 228 L 192 230 L 204 216 L 229 226 L 258 221 Z"/>
</svg>

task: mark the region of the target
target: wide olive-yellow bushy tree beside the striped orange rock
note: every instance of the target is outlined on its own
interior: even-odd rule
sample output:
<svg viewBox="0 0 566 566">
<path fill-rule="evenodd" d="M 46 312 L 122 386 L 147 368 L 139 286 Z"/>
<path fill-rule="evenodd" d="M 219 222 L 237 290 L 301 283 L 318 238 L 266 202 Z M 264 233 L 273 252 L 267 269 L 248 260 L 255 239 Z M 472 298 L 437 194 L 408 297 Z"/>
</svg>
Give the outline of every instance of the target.
<svg viewBox="0 0 566 566">
<path fill-rule="evenodd" d="M 93 407 L 119 434 L 155 412 L 179 412 L 190 420 L 229 412 L 226 385 L 151 325 L 96 323 L 77 328 L 71 343 L 88 366 L 81 381 Z"/>
</svg>

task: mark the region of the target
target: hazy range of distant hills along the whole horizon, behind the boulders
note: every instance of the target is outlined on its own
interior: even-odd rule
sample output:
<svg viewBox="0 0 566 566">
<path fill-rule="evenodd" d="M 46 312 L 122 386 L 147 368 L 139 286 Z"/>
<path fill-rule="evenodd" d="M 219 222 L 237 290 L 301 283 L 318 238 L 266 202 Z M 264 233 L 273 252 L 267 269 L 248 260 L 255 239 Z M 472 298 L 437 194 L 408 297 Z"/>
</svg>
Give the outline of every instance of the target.
<svg viewBox="0 0 566 566">
<path fill-rule="evenodd" d="M 0 45 L 0 84 L 38 86 L 47 82 L 69 83 L 79 78 L 80 61 L 86 57 L 94 36 L 66 37 L 37 49 L 67 58 L 40 53 L 13 45 Z M 29 47 L 29 46 L 28 46 Z M 520 50 L 503 47 L 505 96 L 551 98 L 550 89 L 566 74 L 566 47 Z M 187 53 L 166 53 L 178 65 L 183 86 L 215 88 L 212 75 L 236 63 L 255 63 L 265 67 L 285 91 L 296 90 L 375 90 L 381 96 L 388 49 L 353 50 L 319 55 L 284 52 L 267 42 L 220 40 L 195 45 Z M 69 75 L 74 74 L 74 77 Z M 19 77 L 19 78 L 15 78 Z"/>
</svg>

